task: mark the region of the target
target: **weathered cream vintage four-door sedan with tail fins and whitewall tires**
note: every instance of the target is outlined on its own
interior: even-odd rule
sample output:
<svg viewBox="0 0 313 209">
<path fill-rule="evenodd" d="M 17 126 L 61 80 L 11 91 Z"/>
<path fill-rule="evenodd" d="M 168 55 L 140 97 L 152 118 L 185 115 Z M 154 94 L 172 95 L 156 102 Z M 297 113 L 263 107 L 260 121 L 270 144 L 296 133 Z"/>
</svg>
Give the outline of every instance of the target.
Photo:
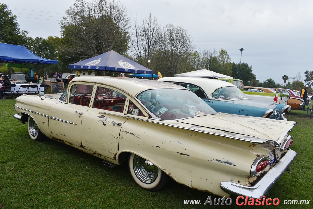
<svg viewBox="0 0 313 209">
<path fill-rule="evenodd" d="M 33 140 L 47 136 L 111 167 L 126 161 L 149 191 L 171 177 L 219 196 L 259 198 L 297 155 L 288 135 L 295 122 L 217 113 L 160 81 L 78 77 L 62 95 L 18 97 L 15 110 Z"/>
</svg>

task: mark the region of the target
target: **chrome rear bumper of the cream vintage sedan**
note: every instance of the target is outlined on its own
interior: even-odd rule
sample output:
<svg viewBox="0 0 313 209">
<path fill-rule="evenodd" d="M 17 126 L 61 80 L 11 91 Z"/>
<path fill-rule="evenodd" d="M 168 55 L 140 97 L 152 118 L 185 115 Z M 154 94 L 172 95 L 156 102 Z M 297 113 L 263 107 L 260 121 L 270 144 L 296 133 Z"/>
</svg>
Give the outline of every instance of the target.
<svg viewBox="0 0 313 209">
<path fill-rule="evenodd" d="M 221 189 L 234 196 L 262 198 L 278 181 L 297 156 L 294 150 L 288 152 L 272 167 L 254 186 L 244 186 L 233 182 L 222 181 Z"/>
</svg>

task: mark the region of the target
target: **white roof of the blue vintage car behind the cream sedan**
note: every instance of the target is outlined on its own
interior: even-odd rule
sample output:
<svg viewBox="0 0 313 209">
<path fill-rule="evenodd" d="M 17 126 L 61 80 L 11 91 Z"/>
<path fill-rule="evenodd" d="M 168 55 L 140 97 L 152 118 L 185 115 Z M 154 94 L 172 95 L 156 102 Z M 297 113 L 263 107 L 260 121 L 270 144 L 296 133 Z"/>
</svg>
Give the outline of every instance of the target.
<svg viewBox="0 0 313 209">
<path fill-rule="evenodd" d="M 226 86 L 235 86 L 234 84 L 228 83 L 222 80 L 209 79 L 209 78 L 194 78 L 194 77 L 165 77 L 159 79 L 159 81 L 167 81 L 167 82 L 183 82 L 194 84 L 201 87 L 208 94 L 211 93 L 212 90 L 219 89 Z"/>
</svg>

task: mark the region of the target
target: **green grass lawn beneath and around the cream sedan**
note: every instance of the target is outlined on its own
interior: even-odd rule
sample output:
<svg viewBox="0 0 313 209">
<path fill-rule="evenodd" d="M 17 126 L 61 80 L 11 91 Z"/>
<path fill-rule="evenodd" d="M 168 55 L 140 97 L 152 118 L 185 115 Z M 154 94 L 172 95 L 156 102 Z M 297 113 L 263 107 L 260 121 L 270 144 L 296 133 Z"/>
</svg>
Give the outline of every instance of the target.
<svg viewBox="0 0 313 209">
<path fill-rule="evenodd" d="M 127 165 L 109 168 L 102 160 L 54 140 L 33 141 L 27 125 L 13 118 L 15 100 L 0 100 L 0 203 L 14 208 L 209 208 L 203 205 L 208 192 L 197 191 L 174 181 L 158 192 L 137 186 Z M 269 197 L 278 206 L 257 208 L 312 208 L 313 204 L 313 119 L 306 111 L 292 110 L 288 120 L 297 121 L 291 148 L 298 153 Z M 208 176 L 209 177 L 209 176 Z M 218 198 L 217 196 L 213 196 Z M 184 205 L 184 200 L 201 200 L 202 205 Z M 311 200 L 310 205 L 283 205 L 284 200 Z M 235 199 L 226 208 L 242 208 Z M 251 208 L 248 207 L 248 208 Z"/>
</svg>

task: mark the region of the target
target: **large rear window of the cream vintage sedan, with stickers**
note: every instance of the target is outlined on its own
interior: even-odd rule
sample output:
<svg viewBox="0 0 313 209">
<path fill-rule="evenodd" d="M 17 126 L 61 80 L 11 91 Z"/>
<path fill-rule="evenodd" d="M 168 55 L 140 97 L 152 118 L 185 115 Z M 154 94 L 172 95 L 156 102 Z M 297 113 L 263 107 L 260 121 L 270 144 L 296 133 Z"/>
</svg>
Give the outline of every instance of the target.
<svg viewBox="0 0 313 209">
<path fill-rule="evenodd" d="M 165 120 L 217 113 L 192 91 L 184 89 L 146 90 L 137 99 L 153 114 L 152 117 Z"/>
</svg>

